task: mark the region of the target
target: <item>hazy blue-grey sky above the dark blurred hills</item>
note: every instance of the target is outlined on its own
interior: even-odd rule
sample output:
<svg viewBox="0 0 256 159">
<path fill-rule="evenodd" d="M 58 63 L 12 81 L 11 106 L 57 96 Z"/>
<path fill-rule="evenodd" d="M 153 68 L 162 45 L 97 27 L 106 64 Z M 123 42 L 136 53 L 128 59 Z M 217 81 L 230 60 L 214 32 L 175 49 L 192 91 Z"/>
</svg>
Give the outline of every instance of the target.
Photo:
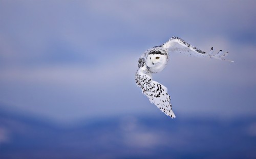
<svg viewBox="0 0 256 159">
<path fill-rule="evenodd" d="M 170 55 L 154 80 L 177 117 L 256 114 L 255 1 L 1 1 L 0 104 L 57 123 L 162 114 L 134 76 L 145 50 L 178 36 L 219 60 Z"/>
</svg>

